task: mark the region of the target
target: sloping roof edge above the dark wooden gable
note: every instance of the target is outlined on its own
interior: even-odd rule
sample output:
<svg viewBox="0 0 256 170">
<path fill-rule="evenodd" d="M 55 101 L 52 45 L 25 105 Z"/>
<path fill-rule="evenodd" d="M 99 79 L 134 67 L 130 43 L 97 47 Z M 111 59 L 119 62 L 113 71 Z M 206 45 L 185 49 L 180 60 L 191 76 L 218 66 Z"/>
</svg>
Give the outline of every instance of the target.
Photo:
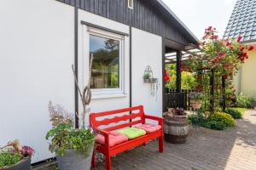
<svg viewBox="0 0 256 170">
<path fill-rule="evenodd" d="M 198 42 L 198 38 L 195 37 L 195 35 L 193 34 L 192 31 L 189 30 L 189 28 L 183 23 L 183 21 L 181 21 L 176 14 L 174 14 L 172 12 L 172 9 L 169 8 L 166 3 L 164 3 L 162 0 L 157 0 L 158 3 L 160 3 L 160 5 L 166 9 L 166 11 L 177 21 L 177 23 L 183 28 L 184 31 L 186 31 L 186 33 L 188 34 L 188 36 L 192 37 L 192 39 L 194 39 L 195 42 Z"/>
</svg>

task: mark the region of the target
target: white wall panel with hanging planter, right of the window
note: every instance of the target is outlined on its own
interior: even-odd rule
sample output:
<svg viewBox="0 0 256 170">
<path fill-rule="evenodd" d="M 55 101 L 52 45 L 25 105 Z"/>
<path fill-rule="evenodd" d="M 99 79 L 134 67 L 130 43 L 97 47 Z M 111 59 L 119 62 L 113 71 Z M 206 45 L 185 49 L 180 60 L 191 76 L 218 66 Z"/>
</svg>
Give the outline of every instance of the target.
<svg viewBox="0 0 256 170">
<path fill-rule="evenodd" d="M 146 114 L 162 116 L 162 38 L 132 28 L 132 105 L 144 105 Z M 150 65 L 160 87 L 152 96 L 150 84 L 143 82 L 143 74 Z"/>
</svg>

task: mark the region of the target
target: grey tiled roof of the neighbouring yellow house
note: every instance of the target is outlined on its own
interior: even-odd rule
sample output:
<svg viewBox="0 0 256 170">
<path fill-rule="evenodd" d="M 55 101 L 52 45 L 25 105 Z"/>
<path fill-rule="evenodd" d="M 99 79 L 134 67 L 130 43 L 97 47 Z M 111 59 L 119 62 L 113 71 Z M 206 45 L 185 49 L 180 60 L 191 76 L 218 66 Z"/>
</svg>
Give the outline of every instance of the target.
<svg viewBox="0 0 256 170">
<path fill-rule="evenodd" d="M 224 38 L 236 38 L 242 41 L 256 40 L 256 0 L 237 0 L 231 14 Z"/>
</svg>

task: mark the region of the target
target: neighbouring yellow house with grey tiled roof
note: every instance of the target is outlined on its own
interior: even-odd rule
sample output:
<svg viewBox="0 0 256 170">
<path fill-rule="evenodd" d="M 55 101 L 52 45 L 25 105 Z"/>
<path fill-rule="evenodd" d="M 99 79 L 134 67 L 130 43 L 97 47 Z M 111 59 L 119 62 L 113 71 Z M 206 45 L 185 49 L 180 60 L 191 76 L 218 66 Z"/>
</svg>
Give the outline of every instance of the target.
<svg viewBox="0 0 256 170">
<path fill-rule="evenodd" d="M 256 0 L 237 0 L 224 38 L 241 35 L 241 43 L 256 46 Z M 241 66 L 234 79 L 237 94 L 256 98 L 256 48 L 247 52 L 249 59 Z"/>
</svg>

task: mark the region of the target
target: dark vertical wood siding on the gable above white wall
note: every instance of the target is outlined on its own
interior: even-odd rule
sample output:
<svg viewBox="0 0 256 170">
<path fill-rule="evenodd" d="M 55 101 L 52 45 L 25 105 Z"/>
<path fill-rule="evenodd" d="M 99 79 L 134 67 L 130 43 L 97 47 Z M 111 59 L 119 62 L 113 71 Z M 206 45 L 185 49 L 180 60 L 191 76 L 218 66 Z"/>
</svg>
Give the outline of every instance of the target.
<svg viewBox="0 0 256 170">
<path fill-rule="evenodd" d="M 127 7 L 127 0 L 58 1 L 175 42 L 195 43 L 195 39 L 156 0 L 134 0 L 133 9 Z"/>
</svg>

